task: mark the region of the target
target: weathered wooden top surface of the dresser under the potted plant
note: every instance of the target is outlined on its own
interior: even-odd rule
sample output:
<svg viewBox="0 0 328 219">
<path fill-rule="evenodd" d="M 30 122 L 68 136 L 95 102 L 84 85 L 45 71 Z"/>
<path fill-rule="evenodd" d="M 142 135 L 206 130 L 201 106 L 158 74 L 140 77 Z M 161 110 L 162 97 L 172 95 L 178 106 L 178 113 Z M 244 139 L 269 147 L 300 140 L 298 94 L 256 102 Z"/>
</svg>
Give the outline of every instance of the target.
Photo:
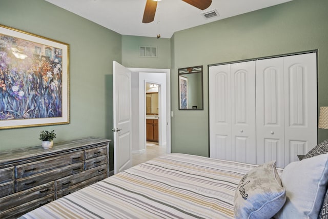
<svg viewBox="0 0 328 219">
<path fill-rule="evenodd" d="M 85 137 L 71 141 L 54 143 L 53 147 L 50 149 L 44 149 L 41 145 L 39 145 L 33 147 L 0 151 L 0 166 L 14 163 L 17 161 L 24 161 L 30 158 L 37 158 L 41 156 L 63 153 L 65 151 L 71 151 L 74 149 L 83 149 L 89 147 L 90 145 L 99 145 L 104 143 L 107 144 L 109 142 L 111 142 L 111 140 L 105 138 Z"/>
</svg>

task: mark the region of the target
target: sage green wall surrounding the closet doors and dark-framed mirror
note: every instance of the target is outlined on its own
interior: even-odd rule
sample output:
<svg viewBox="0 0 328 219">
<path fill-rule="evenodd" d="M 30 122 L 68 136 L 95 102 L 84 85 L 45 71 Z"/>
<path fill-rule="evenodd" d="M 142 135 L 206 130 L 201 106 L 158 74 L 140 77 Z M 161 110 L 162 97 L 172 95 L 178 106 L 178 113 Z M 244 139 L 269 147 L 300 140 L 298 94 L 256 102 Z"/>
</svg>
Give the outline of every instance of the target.
<svg viewBox="0 0 328 219">
<path fill-rule="evenodd" d="M 209 156 L 208 65 L 318 49 L 318 106 L 328 106 L 328 1 L 294 0 L 171 38 L 172 152 Z M 192 54 L 192 55 L 191 55 Z M 177 69 L 204 66 L 204 110 L 178 110 Z M 319 129 L 319 142 L 328 130 Z"/>
</svg>

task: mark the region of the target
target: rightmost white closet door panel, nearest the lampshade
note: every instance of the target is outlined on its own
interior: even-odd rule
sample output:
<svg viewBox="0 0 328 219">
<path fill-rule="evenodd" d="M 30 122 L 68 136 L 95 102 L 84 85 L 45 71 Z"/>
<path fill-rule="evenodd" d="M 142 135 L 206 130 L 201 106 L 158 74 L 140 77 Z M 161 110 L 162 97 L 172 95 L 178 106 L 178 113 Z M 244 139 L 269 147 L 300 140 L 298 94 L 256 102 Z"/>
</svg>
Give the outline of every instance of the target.
<svg viewBox="0 0 328 219">
<path fill-rule="evenodd" d="M 285 164 L 317 145 L 316 53 L 284 57 Z"/>
</svg>

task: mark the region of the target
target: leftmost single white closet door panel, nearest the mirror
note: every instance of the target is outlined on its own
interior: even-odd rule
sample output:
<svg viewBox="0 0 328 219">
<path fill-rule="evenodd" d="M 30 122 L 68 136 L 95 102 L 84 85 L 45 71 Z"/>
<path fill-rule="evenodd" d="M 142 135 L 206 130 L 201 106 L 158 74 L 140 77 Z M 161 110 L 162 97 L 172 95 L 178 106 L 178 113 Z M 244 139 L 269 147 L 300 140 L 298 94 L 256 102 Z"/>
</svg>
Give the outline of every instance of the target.
<svg viewBox="0 0 328 219">
<path fill-rule="evenodd" d="M 230 64 L 209 68 L 210 157 L 232 160 Z"/>
</svg>

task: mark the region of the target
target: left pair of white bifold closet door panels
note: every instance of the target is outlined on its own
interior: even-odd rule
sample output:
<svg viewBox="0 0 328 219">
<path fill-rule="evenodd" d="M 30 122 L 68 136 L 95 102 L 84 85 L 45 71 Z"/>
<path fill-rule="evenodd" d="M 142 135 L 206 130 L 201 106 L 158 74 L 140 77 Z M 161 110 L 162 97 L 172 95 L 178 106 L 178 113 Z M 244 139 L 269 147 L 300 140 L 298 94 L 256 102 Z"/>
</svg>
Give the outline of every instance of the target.
<svg viewBox="0 0 328 219">
<path fill-rule="evenodd" d="M 209 68 L 210 157 L 256 163 L 255 62 Z"/>
</svg>

